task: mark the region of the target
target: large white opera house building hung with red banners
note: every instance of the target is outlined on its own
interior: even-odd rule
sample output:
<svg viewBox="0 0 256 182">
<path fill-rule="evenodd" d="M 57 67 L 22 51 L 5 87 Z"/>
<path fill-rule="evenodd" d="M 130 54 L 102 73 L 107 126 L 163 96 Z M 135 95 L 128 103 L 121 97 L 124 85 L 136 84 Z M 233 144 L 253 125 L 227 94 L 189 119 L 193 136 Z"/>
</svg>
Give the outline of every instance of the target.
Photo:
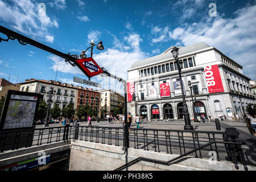
<svg viewBox="0 0 256 182">
<path fill-rule="evenodd" d="M 172 47 L 160 55 L 135 62 L 128 71 L 128 110 L 143 118 L 181 119 L 182 96 L 177 65 Z M 183 60 L 181 76 L 184 84 L 190 118 L 193 107 L 197 118 L 243 114 L 242 106 L 255 103 L 249 77 L 243 75 L 242 66 L 214 47 L 203 42 L 179 47 L 179 60 Z M 188 81 L 191 81 L 192 102 Z M 135 92 L 135 101 L 132 95 Z M 242 99 L 242 105 L 240 102 Z"/>
</svg>

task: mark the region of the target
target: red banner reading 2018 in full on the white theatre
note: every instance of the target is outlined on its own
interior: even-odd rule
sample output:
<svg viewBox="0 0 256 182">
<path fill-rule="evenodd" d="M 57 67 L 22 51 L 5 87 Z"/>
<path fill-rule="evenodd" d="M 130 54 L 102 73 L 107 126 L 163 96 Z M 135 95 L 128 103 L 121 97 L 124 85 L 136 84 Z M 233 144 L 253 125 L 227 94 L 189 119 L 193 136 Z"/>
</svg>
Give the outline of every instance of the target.
<svg viewBox="0 0 256 182">
<path fill-rule="evenodd" d="M 224 92 L 218 65 L 210 65 L 204 68 L 209 93 Z"/>
</svg>

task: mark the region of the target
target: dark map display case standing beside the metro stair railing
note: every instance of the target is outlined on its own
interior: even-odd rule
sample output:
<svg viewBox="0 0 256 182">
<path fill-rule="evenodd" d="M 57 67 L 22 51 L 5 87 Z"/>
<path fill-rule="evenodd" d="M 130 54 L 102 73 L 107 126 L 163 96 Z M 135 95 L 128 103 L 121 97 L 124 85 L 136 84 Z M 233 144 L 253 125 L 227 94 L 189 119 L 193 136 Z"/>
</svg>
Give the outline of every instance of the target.
<svg viewBox="0 0 256 182">
<path fill-rule="evenodd" d="M 0 117 L 0 146 L 4 142 L 4 150 L 32 144 L 41 97 L 39 93 L 8 90 Z"/>
</svg>

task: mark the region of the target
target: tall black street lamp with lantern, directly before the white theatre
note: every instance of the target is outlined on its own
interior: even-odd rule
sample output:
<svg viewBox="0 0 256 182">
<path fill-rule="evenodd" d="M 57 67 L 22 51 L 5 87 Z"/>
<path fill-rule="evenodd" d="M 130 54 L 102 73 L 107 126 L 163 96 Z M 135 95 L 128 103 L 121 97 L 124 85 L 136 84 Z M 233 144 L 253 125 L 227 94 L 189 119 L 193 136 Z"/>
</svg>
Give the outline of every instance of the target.
<svg viewBox="0 0 256 182">
<path fill-rule="evenodd" d="M 181 93 L 182 93 L 182 99 L 183 99 L 183 115 L 184 115 L 184 120 L 185 120 L 185 126 L 184 130 L 193 130 L 193 126 L 191 125 L 190 118 L 189 118 L 189 113 L 188 113 L 188 106 L 185 101 L 185 94 L 183 90 L 183 81 L 181 78 L 181 66 L 182 66 L 182 60 L 179 60 L 179 48 L 174 47 L 172 48 L 172 56 L 174 56 L 175 63 L 177 64 L 177 68 L 179 71 L 179 78 L 180 78 L 180 86 L 181 86 Z"/>
</svg>

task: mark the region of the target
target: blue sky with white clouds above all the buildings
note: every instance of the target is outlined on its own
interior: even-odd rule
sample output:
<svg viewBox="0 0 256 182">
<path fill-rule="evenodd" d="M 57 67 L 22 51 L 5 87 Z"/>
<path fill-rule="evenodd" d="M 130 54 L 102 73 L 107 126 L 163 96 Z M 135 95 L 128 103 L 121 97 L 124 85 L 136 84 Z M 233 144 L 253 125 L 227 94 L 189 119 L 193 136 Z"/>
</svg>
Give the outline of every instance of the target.
<svg viewBox="0 0 256 182">
<path fill-rule="evenodd" d="M 243 73 L 256 80 L 255 2 L 0 0 L 0 24 L 64 53 L 80 55 L 90 40 L 102 40 L 105 49 L 95 47 L 94 60 L 123 78 L 135 61 L 158 55 L 170 46 L 205 42 L 237 61 Z M 45 14 L 39 3 L 46 5 Z M 217 16 L 209 16 L 210 3 L 216 3 Z M 51 53 L 22 46 L 16 40 L 0 43 L 0 77 L 8 80 L 10 75 L 13 83 L 17 77 L 17 82 L 55 80 L 58 63 L 57 80 L 72 84 L 73 76 L 86 78 Z M 101 76 L 92 80 L 105 82 Z"/>
</svg>

